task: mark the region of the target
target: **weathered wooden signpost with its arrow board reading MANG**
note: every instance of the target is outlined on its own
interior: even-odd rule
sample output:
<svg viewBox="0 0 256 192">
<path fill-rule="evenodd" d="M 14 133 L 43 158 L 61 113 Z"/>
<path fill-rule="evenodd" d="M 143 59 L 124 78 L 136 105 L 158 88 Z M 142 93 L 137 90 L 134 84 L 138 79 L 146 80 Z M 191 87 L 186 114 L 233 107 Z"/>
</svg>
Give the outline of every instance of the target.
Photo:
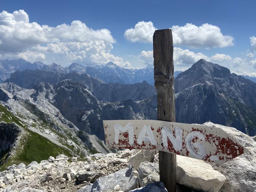
<svg viewBox="0 0 256 192">
<path fill-rule="evenodd" d="M 176 154 L 222 164 L 246 149 L 221 128 L 175 123 L 174 64 L 171 29 L 153 36 L 158 120 L 104 120 L 108 148 L 159 151 L 160 181 L 175 191 Z"/>
</svg>

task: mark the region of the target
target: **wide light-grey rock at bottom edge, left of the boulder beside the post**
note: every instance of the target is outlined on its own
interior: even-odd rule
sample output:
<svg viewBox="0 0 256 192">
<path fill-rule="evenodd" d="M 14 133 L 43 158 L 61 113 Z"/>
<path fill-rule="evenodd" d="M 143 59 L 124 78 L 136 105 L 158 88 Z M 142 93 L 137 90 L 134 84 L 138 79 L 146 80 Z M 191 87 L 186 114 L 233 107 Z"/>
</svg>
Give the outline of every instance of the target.
<svg viewBox="0 0 256 192">
<path fill-rule="evenodd" d="M 128 192 L 138 187 L 138 178 L 131 174 L 131 169 L 121 169 L 113 174 L 98 178 L 91 188 L 93 192 L 113 191 L 114 187 L 119 184 L 120 190 Z"/>
</svg>

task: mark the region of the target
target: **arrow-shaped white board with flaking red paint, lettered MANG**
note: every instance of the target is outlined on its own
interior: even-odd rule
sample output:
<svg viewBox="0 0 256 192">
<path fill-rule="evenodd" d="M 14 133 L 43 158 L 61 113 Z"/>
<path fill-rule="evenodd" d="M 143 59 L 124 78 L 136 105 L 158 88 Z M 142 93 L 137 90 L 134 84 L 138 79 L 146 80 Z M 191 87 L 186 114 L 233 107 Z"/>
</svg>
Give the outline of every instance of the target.
<svg viewBox="0 0 256 192">
<path fill-rule="evenodd" d="M 108 148 L 155 149 L 222 164 L 247 151 L 221 128 L 159 120 L 104 120 Z"/>
</svg>

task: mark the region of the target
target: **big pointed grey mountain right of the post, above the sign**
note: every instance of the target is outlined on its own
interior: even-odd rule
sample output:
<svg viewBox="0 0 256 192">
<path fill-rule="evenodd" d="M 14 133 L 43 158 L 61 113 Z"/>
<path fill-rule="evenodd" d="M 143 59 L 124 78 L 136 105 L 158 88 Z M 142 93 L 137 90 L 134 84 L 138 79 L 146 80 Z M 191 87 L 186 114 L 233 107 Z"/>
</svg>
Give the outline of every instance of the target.
<svg viewBox="0 0 256 192">
<path fill-rule="evenodd" d="M 175 78 L 176 121 L 211 121 L 256 135 L 256 84 L 200 59 Z"/>
</svg>

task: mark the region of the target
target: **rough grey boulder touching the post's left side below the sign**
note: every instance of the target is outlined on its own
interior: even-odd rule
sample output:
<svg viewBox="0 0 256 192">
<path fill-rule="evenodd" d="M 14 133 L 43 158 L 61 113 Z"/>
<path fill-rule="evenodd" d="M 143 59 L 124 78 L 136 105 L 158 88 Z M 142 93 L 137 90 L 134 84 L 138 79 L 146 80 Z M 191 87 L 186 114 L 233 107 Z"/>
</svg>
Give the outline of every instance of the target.
<svg viewBox="0 0 256 192">
<path fill-rule="evenodd" d="M 139 166 L 139 183 L 141 187 L 159 181 L 159 165 L 157 163 L 142 162 Z"/>
</svg>

